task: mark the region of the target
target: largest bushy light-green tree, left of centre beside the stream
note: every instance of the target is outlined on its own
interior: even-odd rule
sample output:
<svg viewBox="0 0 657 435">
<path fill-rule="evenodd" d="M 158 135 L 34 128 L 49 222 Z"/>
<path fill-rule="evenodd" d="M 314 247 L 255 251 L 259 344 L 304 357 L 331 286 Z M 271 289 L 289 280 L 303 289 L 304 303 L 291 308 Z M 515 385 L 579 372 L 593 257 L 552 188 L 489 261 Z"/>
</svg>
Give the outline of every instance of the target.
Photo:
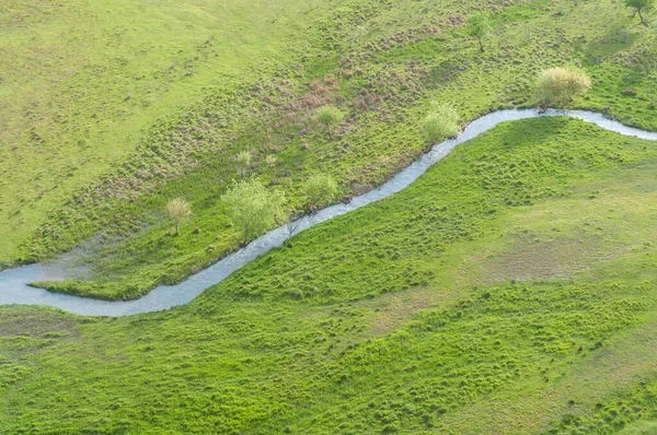
<svg viewBox="0 0 657 435">
<path fill-rule="evenodd" d="M 285 217 L 285 193 L 269 192 L 257 179 L 235 183 L 222 197 L 231 222 L 242 230 L 246 242 Z"/>
</svg>

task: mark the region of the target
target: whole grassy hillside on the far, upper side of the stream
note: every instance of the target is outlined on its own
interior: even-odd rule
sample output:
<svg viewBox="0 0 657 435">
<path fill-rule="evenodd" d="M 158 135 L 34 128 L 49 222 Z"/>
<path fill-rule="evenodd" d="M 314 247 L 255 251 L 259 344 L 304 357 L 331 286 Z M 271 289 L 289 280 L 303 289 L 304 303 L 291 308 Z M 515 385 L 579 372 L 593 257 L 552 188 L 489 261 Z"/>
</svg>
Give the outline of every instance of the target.
<svg viewBox="0 0 657 435">
<path fill-rule="evenodd" d="M 2 47 L 20 59 L 3 64 L 2 75 L 24 75 L 13 64 L 33 59 L 23 70 L 45 83 L 43 98 L 66 106 L 39 103 L 56 111 L 44 119 L 60 113 L 68 121 L 33 128 L 19 111 L 7 116 L 28 125 L 3 133 L 18 145 L 3 146 L 0 158 L 8 223 L 0 261 L 49 259 L 82 246 L 94 274 L 59 291 L 138 297 L 234 249 L 239 234 L 218 198 L 239 178 L 231 158 L 240 151 L 253 155 L 247 176 L 285 189 L 300 211 L 299 186 L 312 173 L 332 174 L 350 195 L 415 158 L 426 149 L 417 125 L 430 101 L 453 102 L 463 120 L 531 104 L 535 74 L 546 67 L 572 63 L 591 75 L 593 91 L 577 106 L 657 129 L 654 30 L 611 0 L 103 3 L 78 16 L 94 9 L 85 3 L 30 17 L 24 2 L 12 4 L 3 15 L 12 25 L 0 37 L 16 44 Z M 462 27 L 477 10 L 494 17 L 484 54 Z M 83 47 L 65 46 L 76 47 L 69 56 L 77 63 L 23 56 L 47 47 L 47 37 L 61 40 L 57 28 L 73 32 L 73 22 Z M 102 35 L 81 37 L 91 32 L 84 26 Z M 11 102 L 42 95 L 20 91 L 26 84 L 18 80 L 2 83 L 0 95 Z M 313 119 L 325 103 L 347 114 L 333 139 Z M 272 155 L 276 164 L 267 165 Z M 194 216 L 181 237 L 170 237 L 164 204 L 178 196 Z"/>
</svg>

